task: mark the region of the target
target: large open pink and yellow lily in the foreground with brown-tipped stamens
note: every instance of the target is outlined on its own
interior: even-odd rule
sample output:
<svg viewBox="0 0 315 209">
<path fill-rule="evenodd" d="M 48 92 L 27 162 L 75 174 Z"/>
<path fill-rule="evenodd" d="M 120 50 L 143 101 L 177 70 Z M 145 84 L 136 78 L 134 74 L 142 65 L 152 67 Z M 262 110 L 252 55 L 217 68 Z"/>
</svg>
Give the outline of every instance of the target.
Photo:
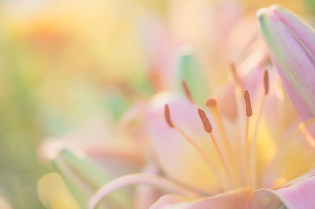
<svg viewBox="0 0 315 209">
<path fill-rule="evenodd" d="M 270 115 L 263 109 L 264 103 L 288 103 L 285 97 L 279 97 L 281 88 L 275 76 L 264 71 L 264 79 L 259 77 L 263 82 L 257 82 L 261 86 L 254 88 L 246 84 L 246 77 L 239 80 L 256 95 L 251 99 L 249 91 L 244 91 L 244 108 L 242 95 L 237 95 L 240 85 L 235 85 L 235 103 L 242 104 L 242 108 L 236 108 L 234 120 L 221 115 L 220 101 L 214 98 L 207 101 L 210 114 L 176 93 L 156 95 L 147 130 L 164 175 L 119 177 L 101 187 L 91 197 L 88 208 L 93 209 L 112 191 L 138 183 L 170 193 L 150 209 L 314 208 L 315 119 L 300 122 L 293 131 L 292 124 L 286 123 L 277 127 L 277 134 L 272 133 L 273 124 L 268 122 Z"/>
</svg>

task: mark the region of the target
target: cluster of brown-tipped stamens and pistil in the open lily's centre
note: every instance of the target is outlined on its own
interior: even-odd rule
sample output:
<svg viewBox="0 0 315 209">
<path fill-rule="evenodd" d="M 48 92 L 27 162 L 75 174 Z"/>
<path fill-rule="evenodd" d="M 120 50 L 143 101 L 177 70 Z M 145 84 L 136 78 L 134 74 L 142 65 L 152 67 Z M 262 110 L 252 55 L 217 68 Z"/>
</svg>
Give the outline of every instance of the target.
<svg viewBox="0 0 315 209">
<path fill-rule="evenodd" d="M 233 69 L 233 68 L 232 68 Z M 257 130 L 259 126 L 259 121 L 262 115 L 262 110 L 264 106 L 265 96 L 269 92 L 269 78 L 268 78 L 268 71 L 264 70 L 263 72 L 263 84 L 264 84 L 264 95 L 262 97 L 262 101 L 259 107 L 259 114 L 257 117 L 257 121 L 255 123 L 255 129 L 254 129 L 254 135 L 252 140 L 249 138 L 249 125 L 250 125 L 250 117 L 253 115 L 252 110 L 252 102 L 251 102 L 251 96 L 247 89 L 243 92 L 243 99 L 241 98 L 242 94 L 241 91 L 241 84 L 240 80 L 238 79 L 238 75 L 236 71 L 233 71 L 234 78 L 236 80 L 236 85 L 234 88 L 235 95 L 237 95 L 237 99 L 240 101 L 244 100 L 245 104 L 245 115 L 246 115 L 246 121 L 243 120 L 242 117 L 239 118 L 239 124 L 244 124 L 245 122 L 245 130 L 244 130 L 244 137 L 242 137 L 241 141 L 239 142 L 241 146 L 241 160 L 240 165 L 237 163 L 237 158 L 235 158 L 233 154 L 233 149 L 230 144 L 230 140 L 227 137 L 227 133 L 225 131 L 224 124 L 222 122 L 222 116 L 220 114 L 220 111 L 218 109 L 218 101 L 215 97 L 209 97 L 205 105 L 209 107 L 211 114 L 213 115 L 214 122 L 216 123 L 218 133 L 221 139 L 221 143 L 217 143 L 217 139 L 212 134 L 212 125 L 207 117 L 206 112 L 198 108 L 197 113 L 200 117 L 200 120 L 202 121 L 204 130 L 209 133 L 210 139 L 212 140 L 214 147 L 216 149 L 217 155 L 219 156 L 220 163 L 223 167 L 224 174 L 227 178 L 224 178 L 222 176 L 222 173 L 220 172 L 220 169 L 217 168 L 217 166 L 212 162 L 212 160 L 208 157 L 208 155 L 199 147 L 193 139 L 191 139 L 180 127 L 178 127 L 174 122 L 171 120 L 171 114 L 168 104 L 165 106 L 165 118 L 168 123 L 168 125 L 172 128 L 177 129 L 184 137 L 185 139 L 200 153 L 200 155 L 204 158 L 204 160 L 207 162 L 211 170 L 214 172 L 217 179 L 222 183 L 221 185 L 227 185 L 223 186 L 223 190 L 229 190 L 234 188 L 239 188 L 242 186 L 252 186 L 253 189 L 257 189 L 259 187 L 258 185 L 258 179 L 257 179 L 257 165 L 256 165 L 256 138 L 257 138 Z M 185 89 L 185 93 L 187 97 L 192 101 L 192 97 L 190 96 L 189 89 L 185 82 L 183 82 L 183 86 Z M 243 106 L 243 104 L 242 104 Z M 244 107 L 243 107 L 244 108 Z M 239 111 L 240 112 L 240 111 Z M 242 111 L 243 112 L 243 111 Z M 228 181 L 226 182 L 224 181 Z"/>
</svg>

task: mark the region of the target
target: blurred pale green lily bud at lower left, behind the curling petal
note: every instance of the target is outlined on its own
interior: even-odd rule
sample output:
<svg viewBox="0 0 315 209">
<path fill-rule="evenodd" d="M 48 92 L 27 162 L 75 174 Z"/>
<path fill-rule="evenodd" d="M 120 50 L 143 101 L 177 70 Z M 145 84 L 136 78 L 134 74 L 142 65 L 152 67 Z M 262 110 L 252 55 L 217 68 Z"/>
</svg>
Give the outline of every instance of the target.
<svg viewBox="0 0 315 209">
<path fill-rule="evenodd" d="M 87 207 L 90 195 L 112 179 L 101 165 L 84 153 L 75 153 L 64 148 L 52 162 L 83 208 Z M 106 198 L 106 203 L 115 205 L 115 208 L 128 208 L 130 201 L 124 190 L 117 190 Z"/>
</svg>

